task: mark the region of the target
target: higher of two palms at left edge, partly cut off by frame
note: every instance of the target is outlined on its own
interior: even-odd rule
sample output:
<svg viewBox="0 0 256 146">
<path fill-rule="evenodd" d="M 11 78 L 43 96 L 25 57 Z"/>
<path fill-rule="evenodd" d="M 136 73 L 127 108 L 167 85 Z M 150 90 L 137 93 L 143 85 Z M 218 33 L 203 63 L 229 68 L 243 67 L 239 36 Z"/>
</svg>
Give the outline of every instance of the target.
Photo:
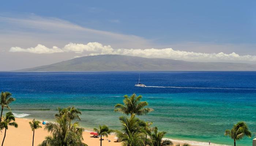
<svg viewBox="0 0 256 146">
<path fill-rule="evenodd" d="M 2 110 L 1 110 L 0 122 L 2 120 L 2 114 L 3 114 L 4 108 L 8 108 L 10 110 L 11 108 L 9 107 L 9 104 L 12 101 L 15 101 L 15 99 L 12 97 L 12 94 L 10 92 L 3 92 L 3 91 L 1 92 L 0 104 L 1 104 Z"/>
</svg>

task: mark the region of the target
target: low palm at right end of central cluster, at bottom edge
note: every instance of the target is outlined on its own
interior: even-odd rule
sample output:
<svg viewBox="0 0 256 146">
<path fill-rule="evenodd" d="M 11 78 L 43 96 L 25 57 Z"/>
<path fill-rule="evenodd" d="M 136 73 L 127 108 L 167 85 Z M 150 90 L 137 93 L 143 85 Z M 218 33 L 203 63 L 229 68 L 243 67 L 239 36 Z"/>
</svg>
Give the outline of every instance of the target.
<svg viewBox="0 0 256 146">
<path fill-rule="evenodd" d="M 170 141 L 169 139 L 163 139 L 165 136 L 166 132 L 158 132 L 158 128 L 154 128 L 154 132 L 151 134 L 151 140 L 153 143 L 153 146 L 172 146 L 173 142 Z"/>
</svg>

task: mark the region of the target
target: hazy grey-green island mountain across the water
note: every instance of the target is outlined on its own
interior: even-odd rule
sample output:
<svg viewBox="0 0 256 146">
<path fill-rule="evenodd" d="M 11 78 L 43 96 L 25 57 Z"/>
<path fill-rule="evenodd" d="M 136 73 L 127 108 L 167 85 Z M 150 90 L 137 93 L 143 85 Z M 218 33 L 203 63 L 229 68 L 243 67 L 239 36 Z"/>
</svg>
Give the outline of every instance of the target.
<svg viewBox="0 0 256 146">
<path fill-rule="evenodd" d="M 126 55 L 95 55 L 18 71 L 255 71 L 255 64 L 225 62 L 188 62 L 172 59 Z"/>
</svg>

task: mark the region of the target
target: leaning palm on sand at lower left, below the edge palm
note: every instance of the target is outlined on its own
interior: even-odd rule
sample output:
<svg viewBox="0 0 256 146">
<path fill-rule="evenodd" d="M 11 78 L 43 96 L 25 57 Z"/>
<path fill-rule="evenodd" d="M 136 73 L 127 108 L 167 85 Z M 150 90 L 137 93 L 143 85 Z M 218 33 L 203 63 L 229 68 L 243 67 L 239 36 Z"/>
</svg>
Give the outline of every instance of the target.
<svg viewBox="0 0 256 146">
<path fill-rule="evenodd" d="M 12 112 L 7 112 L 5 114 L 5 117 L 3 117 L 3 122 L 1 122 L 1 126 L 3 126 L 5 128 L 5 131 L 4 131 L 4 139 L 5 139 L 5 136 L 6 136 L 6 130 L 8 129 L 8 125 L 9 126 L 14 126 L 15 128 L 18 128 L 18 124 L 15 122 L 15 117 L 14 115 L 12 114 Z M 2 146 L 4 144 L 4 139 L 3 139 L 3 142 L 2 142 Z"/>
</svg>

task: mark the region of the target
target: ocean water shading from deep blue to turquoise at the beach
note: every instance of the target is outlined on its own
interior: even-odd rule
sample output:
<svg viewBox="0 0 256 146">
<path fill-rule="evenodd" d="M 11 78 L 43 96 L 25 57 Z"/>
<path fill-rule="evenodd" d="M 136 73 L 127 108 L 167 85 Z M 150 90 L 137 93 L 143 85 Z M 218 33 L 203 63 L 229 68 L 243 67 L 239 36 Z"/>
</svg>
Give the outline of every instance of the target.
<svg viewBox="0 0 256 146">
<path fill-rule="evenodd" d="M 153 87 L 134 87 L 139 73 Z M 12 112 L 26 118 L 54 120 L 57 107 L 74 105 L 88 129 L 120 128 L 114 105 L 136 93 L 155 110 L 139 118 L 167 138 L 233 145 L 224 132 L 234 123 L 256 131 L 256 72 L 0 72 L 0 90 L 13 94 Z M 237 144 L 251 146 L 252 138 Z"/>
</svg>

